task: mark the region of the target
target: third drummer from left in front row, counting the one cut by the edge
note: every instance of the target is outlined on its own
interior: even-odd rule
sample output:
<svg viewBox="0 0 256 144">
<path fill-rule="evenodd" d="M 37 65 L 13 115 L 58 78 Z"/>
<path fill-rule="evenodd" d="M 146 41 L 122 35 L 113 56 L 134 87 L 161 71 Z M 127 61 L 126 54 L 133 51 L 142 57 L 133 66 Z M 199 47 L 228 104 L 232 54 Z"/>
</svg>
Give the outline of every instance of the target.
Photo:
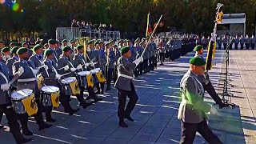
<svg viewBox="0 0 256 144">
<path fill-rule="evenodd" d="M 46 86 L 57 86 L 59 87 L 60 90 L 60 102 L 62 106 L 64 107 L 64 111 L 66 113 L 69 113 L 70 115 L 73 115 L 76 113 L 79 109 L 74 110 L 70 106 L 70 101 L 68 98 L 70 98 L 70 95 L 66 95 L 64 90 L 62 89 L 62 86 L 59 84 L 58 79 L 61 78 L 61 75 L 58 74 L 57 72 L 57 63 L 54 61 L 54 51 L 52 49 L 47 49 L 45 51 L 46 59 L 42 62 L 44 65 L 48 67 L 48 69 L 43 69 L 41 70 L 41 74 L 43 77 L 43 82 L 46 84 Z M 50 109 L 51 112 L 51 109 Z M 50 114 L 50 113 L 46 113 Z M 50 121 L 53 121 L 51 118 L 51 115 L 46 115 L 46 120 L 47 117 L 50 118 Z"/>
</svg>

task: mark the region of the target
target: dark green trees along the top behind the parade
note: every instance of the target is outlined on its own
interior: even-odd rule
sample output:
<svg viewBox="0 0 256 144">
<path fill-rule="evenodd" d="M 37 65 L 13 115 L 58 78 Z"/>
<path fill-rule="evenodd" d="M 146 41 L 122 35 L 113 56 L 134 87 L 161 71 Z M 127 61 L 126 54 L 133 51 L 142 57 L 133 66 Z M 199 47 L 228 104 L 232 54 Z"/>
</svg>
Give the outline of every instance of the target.
<svg viewBox="0 0 256 144">
<path fill-rule="evenodd" d="M 187 32 L 210 34 L 214 27 L 217 2 L 224 4 L 224 14 L 246 13 L 246 32 L 254 30 L 255 0 L 19 0 L 25 13 L 0 5 L 0 30 L 9 33 L 42 31 L 54 36 L 58 26 L 70 26 L 73 18 L 82 22 L 113 24 L 122 32 L 145 34 L 146 14 L 151 25 L 162 21 Z"/>
</svg>

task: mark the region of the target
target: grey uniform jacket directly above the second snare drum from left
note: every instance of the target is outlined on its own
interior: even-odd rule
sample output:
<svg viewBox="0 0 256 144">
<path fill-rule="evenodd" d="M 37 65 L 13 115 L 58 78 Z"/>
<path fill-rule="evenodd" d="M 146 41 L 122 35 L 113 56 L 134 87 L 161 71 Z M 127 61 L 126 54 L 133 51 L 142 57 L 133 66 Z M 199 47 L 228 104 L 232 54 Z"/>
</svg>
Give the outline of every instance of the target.
<svg viewBox="0 0 256 144">
<path fill-rule="evenodd" d="M 48 66 L 47 71 L 46 69 L 40 70 L 44 80 L 44 84 L 46 84 L 46 86 L 58 86 L 57 79 L 55 79 L 57 72 L 57 63 L 47 58 L 42 63 Z"/>
</svg>

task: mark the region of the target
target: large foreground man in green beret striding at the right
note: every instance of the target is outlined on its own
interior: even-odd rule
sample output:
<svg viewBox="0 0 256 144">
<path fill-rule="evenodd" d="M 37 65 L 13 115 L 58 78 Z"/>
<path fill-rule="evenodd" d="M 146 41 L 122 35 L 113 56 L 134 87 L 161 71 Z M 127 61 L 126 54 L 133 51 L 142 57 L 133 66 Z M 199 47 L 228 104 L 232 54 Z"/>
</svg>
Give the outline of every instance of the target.
<svg viewBox="0 0 256 144">
<path fill-rule="evenodd" d="M 222 143 L 206 122 L 206 113 L 216 114 L 217 110 L 203 101 L 204 89 L 198 75 L 204 73 L 205 65 L 206 62 L 202 58 L 191 58 L 190 70 L 184 74 L 180 83 L 182 91 L 182 102 L 178 109 L 178 119 L 181 120 L 182 128 L 180 143 L 193 143 L 196 132 L 208 143 Z"/>
</svg>

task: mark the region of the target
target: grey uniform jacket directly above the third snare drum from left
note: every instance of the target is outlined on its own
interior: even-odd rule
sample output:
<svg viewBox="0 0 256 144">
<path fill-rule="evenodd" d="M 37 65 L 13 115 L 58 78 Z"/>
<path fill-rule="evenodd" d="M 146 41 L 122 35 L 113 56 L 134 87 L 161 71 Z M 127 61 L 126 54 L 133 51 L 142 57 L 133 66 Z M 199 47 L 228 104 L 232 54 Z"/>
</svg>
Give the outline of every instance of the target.
<svg viewBox="0 0 256 144">
<path fill-rule="evenodd" d="M 64 70 L 64 67 L 65 66 L 69 66 L 69 69 L 68 70 Z M 75 74 L 74 72 L 72 72 L 70 70 L 70 68 L 74 67 L 73 64 L 70 62 L 70 59 L 66 56 L 62 56 L 62 58 L 59 58 L 58 59 L 58 66 L 57 66 L 57 69 L 58 69 L 58 74 L 66 74 L 65 76 L 63 76 L 62 78 L 68 78 L 68 77 L 75 77 Z M 74 67 L 75 68 L 75 67 Z M 70 73 L 70 74 L 67 74 L 67 73 Z"/>
</svg>

